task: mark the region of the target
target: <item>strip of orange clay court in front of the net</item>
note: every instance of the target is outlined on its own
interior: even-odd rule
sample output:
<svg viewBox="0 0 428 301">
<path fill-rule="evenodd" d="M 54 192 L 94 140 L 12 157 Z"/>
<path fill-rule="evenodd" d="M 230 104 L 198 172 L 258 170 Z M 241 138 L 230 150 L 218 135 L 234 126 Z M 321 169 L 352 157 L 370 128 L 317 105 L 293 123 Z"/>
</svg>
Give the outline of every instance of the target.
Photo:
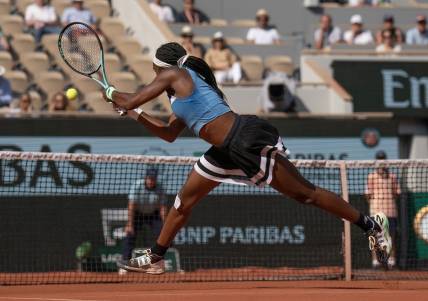
<svg viewBox="0 0 428 301">
<path fill-rule="evenodd" d="M 3 286 L 3 300 L 428 300 L 427 281 L 276 281 Z"/>
</svg>

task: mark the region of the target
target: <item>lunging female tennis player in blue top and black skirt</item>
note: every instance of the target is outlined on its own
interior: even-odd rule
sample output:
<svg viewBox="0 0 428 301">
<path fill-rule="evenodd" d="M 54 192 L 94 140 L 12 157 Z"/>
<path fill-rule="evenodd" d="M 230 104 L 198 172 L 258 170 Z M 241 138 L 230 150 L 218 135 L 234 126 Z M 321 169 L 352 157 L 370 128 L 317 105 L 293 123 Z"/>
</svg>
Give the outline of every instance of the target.
<svg viewBox="0 0 428 301">
<path fill-rule="evenodd" d="M 142 256 L 118 262 L 130 271 L 144 272 L 163 259 L 175 235 L 187 222 L 192 208 L 221 182 L 270 185 L 301 203 L 319 207 L 360 227 L 369 238 L 379 262 L 386 263 L 391 250 L 388 219 L 358 212 L 336 194 L 304 179 L 287 159 L 286 149 L 276 128 L 257 116 L 233 112 L 218 88 L 209 66 L 186 55 L 177 43 L 167 43 L 153 59 L 156 78 L 140 92 L 120 93 L 114 87 L 105 92 L 116 109 L 143 124 L 154 135 L 173 142 L 187 126 L 212 147 L 200 158 L 178 193 L 156 244 Z M 173 114 L 164 122 L 132 109 L 168 94 Z M 140 113 L 140 114 L 139 114 Z"/>
</svg>

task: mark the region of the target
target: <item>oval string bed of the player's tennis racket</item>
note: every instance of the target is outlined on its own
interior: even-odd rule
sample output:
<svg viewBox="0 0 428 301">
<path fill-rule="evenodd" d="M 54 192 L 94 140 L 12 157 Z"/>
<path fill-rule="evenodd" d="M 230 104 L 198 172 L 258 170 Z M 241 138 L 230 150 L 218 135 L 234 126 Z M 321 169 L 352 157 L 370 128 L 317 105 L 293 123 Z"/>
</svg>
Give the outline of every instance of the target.
<svg viewBox="0 0 428 301">
<path fill-rule="evenodd" d="M 87 25 L 73 24 L 66 28 L 60 39 L 60 50 L 64 60 L 79 73 L 91 75 L 100 69 L 102 46 Z"/>
</svg>

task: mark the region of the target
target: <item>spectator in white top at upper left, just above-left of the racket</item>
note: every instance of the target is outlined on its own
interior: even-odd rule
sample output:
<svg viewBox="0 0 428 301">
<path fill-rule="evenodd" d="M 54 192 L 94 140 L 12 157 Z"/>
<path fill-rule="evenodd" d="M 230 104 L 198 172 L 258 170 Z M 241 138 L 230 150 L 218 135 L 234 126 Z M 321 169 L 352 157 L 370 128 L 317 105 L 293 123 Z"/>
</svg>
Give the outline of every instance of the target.
<svg viewBox="0 0 428 301">
<path fill-rule="evenodd" d="M 57 34 L 61 30 L 55 8 L 45 0 L 34 0 L 33 4 L 27 6 L 25 23 L 33 31 L 37 43 L 43 35 Z"/>
</svg>

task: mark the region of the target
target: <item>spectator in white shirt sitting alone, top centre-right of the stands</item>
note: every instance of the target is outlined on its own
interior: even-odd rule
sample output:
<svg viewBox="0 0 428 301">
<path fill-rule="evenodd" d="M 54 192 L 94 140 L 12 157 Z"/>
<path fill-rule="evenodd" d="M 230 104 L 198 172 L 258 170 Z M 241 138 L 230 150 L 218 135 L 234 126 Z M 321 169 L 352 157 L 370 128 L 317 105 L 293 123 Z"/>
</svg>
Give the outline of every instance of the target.
<svg viewBox="0 0 428 301">
<path fill-rule="evenodd" d="M 279 33 L 273 26 L 269 25 L 269 13 L 265 9 L 259 9 L 256 13 L 257 27 L 250 28 L 247 40 L 258 45 L 279 44 Z"/>
</svg>

